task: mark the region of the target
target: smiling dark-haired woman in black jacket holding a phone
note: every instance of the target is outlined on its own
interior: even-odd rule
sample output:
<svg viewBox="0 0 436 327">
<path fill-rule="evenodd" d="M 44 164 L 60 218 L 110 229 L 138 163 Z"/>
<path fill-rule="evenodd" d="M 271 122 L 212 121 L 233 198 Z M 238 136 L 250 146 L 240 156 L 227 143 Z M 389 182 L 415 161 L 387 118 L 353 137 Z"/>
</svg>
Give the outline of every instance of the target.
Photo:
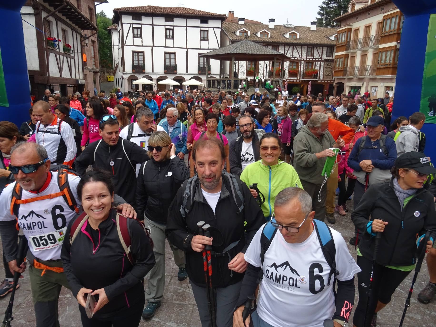
<svg viewBox="0 0 436 327">
<path fill-rule="evenodd" d="M 79 303 L 84 327 L 138 326 L 145 302 L 143 278 L 155 263 L 150 240 L 141 223 L 123 216 L 117 218 L 112 208 L 113 194 L 109 173 L 87 172 L 77 186 L 86 216 L 72 219 L 62 245 L 63 268 Z M 121 245 L 117 219 L 127 219 L 127 228 L 120 229 L 122 233 L 128 231 L 131 256 L 126 255 Z M 76 225 L 76 220 L 83 224 Z M 76 228 L 72 231 L 73 225 Z M 92 318 L 85 312 L 87 296 L 95 296 Z"/>
</svg>

